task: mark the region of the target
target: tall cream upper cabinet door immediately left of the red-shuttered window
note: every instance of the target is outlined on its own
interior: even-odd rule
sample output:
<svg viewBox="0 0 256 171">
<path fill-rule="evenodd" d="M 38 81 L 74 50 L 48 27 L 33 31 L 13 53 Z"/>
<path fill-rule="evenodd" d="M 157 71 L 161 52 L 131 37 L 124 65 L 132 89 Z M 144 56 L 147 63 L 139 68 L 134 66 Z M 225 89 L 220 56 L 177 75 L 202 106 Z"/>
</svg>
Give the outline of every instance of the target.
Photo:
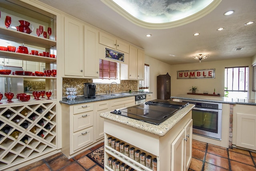
<svg viewBox="0 0 256 171">
<path fill-rule="evenodd" d="M 98 30 L 84 28 L 84 76 L 99 78 Z"/>
</svg>

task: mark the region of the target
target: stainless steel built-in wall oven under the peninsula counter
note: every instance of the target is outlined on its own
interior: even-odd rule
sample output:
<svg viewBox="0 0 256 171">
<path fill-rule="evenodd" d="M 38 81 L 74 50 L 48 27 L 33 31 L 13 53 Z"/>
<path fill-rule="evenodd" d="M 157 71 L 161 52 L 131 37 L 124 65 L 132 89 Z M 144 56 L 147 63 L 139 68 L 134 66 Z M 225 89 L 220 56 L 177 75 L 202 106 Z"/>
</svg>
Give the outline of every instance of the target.
<svg viewBox="0 0 256 171">
<path fill-rule="evenodd" d="M 196 105 L 192 109 L 193 133 L 221 140 L 222 103 L 183 102 Z"/>
</svg>

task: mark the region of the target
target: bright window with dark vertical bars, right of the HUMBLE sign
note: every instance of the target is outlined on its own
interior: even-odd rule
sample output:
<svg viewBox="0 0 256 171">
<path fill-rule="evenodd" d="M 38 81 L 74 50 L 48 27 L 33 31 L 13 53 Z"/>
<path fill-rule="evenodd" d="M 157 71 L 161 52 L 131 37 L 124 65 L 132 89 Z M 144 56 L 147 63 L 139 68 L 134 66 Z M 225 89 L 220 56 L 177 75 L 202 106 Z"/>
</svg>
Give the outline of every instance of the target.
<svg viewBox="0 0 256 171">
<path fill-rule="evenodd" d="M 225 96 L 248 98 L 248 74 L 248 66 L 225 68 Z"/>
</svg>

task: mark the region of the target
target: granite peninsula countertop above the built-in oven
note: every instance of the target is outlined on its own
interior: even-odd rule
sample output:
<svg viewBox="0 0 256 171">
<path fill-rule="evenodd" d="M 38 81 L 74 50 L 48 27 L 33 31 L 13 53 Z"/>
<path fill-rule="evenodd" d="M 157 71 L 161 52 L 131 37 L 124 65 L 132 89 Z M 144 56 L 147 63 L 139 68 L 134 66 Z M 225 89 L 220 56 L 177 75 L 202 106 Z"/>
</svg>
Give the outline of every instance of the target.
<svg viewBox="0 0 256 171">
<path fill-rule="evenodd" d="M 241 105 L 256 105 L 256 100 L 252 99 L 235 99 L 230 97 L 215 97 L 206 95 L 189 95 L 179 94 L 171 96 L 172 99 L 192 100 L 192 101 L 205 101 L 213 103 L 227 103 L 227 104 L 241 104 Z"/>
</svg>

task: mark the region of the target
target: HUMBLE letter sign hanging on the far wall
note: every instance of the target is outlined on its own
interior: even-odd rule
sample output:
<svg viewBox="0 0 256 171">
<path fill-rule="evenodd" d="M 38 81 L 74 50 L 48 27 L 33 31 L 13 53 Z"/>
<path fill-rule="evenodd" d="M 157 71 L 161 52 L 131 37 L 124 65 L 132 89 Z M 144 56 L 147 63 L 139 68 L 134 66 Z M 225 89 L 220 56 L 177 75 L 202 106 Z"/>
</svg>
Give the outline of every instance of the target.
<svg viewBox="0 0 256 171">
<path fill-rule="evenodd" d="M 215 69 L 177 71 L 177 79 L 215 78 Z"/>
</svg>

